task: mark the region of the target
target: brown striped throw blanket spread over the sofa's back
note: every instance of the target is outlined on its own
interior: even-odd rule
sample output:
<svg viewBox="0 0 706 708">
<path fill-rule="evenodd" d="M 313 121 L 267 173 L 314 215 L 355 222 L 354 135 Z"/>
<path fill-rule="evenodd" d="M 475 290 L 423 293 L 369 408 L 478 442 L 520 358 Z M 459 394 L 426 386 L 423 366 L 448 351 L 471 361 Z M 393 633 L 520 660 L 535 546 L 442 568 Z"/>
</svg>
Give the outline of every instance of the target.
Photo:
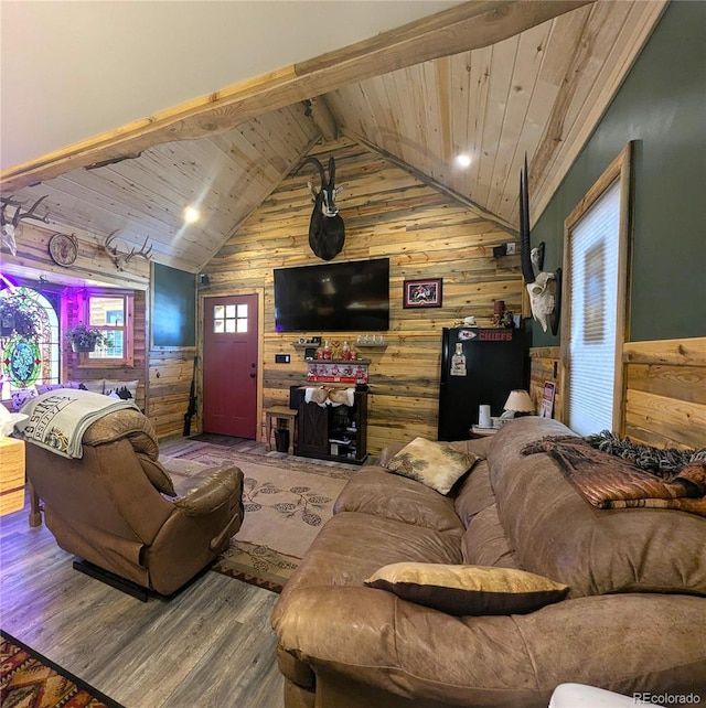
<svg viewBox="0 0 706 708">
<path fill-rule="evenodd" d="M 675 508 L 706 516 L 706 461 L 691 458 L 671 474 L 654 474 L 630 460 L 596 449 L 589 440 L 554 437 L 525 446 L 523 454 L 548 453 L 598 508 Z"/>
</svg>

